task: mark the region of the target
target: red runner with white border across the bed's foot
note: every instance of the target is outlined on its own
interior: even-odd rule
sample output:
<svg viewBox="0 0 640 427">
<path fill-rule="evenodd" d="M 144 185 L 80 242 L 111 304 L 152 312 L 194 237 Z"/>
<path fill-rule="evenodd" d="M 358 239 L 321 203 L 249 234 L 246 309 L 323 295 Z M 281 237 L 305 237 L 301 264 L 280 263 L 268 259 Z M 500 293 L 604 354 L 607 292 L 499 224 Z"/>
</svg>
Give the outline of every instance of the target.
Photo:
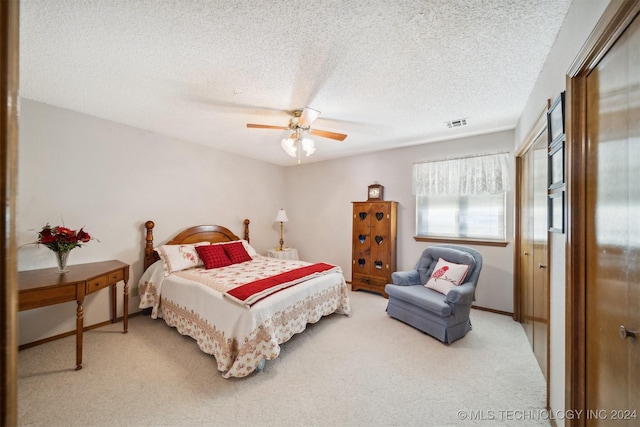
<svg viewBox="0 0 640 427">
<path fill-rule="evenodd" d="M 240 285 L 227 291 L 225 295 L 235 302 L 252 306 L 269 295 L 331 271 L 338 271 L 338 267 L 323 262 L 311 264 Z"/>
</svg>

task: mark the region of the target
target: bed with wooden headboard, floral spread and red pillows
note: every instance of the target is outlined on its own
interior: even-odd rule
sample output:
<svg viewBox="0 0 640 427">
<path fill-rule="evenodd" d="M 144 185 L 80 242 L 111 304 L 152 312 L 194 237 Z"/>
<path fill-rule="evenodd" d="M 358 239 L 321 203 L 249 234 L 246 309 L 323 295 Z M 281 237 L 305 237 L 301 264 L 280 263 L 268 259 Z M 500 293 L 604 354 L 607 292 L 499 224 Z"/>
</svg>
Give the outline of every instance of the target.
<svg viewBox="0 0 640 427">
<path fill-rule="evenodd" d="M 340 267 L 257 254 L 248 219 L 243 239 L 223 226 L 199 225 L 157 247 L 154 226 L 145 223 L 139 307 L 196 340 L 225 378 L 261 370 L 307 324 L 350 313 Z"/>
</svg>

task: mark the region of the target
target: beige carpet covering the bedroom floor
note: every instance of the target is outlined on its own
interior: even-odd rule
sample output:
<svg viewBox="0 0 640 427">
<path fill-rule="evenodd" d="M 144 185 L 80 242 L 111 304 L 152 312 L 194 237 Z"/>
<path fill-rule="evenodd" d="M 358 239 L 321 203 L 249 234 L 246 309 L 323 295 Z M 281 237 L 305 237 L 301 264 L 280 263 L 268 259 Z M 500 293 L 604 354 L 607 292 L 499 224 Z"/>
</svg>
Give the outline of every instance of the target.
<svg viewBox="0 0 640 427">
<path fill-rule="evenodd" d="M 545 383 L 520 324 L 473 310 L 444 345 L 391 319 L 386 300 L 351 292 L 282 346 L 265 370 L 226 380 L 212 356 L 147 316 L 18 354 L 18 420 L 35 426 L 544 425 Z"/>
</svg>

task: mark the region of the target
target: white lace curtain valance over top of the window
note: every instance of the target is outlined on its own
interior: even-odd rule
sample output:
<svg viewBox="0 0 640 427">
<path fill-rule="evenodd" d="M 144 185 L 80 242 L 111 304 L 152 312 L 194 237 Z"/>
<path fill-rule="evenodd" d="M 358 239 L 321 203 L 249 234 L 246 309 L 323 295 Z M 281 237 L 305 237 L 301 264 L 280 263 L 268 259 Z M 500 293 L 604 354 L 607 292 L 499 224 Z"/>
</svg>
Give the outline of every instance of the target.
<svg viewBox="0 0 640 427">
<path fill-rule="evenodd" d="M 510 190 L 507 153 L 416 163 L 416 196 L 473 196 Z"/>
</svg>

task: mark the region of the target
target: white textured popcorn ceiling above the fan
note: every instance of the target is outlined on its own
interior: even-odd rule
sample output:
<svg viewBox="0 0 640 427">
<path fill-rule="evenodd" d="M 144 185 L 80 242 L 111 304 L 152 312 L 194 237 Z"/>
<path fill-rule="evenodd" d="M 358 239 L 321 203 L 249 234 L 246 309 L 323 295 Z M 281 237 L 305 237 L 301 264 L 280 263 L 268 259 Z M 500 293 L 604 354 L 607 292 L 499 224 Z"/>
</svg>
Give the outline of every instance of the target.
<svg viewBox="0 0 640 427">
<path fill-rule="evenodd" d="M 21 0 L 21 96 L 280 165 L 515 127 L 571 0 Z M 446 123 L 466 119 L 450 129 Z"/>
</svg>

